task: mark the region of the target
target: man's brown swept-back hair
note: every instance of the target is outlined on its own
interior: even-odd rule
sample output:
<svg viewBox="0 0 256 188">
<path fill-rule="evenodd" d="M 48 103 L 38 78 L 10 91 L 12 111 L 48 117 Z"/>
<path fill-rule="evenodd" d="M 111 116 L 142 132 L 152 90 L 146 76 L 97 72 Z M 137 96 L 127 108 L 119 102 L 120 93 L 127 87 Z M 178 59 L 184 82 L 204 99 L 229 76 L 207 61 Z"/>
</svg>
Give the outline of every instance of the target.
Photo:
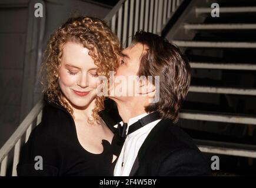
<svg viewBox="0 0 256 188">
<path fill-rule="evenodd" d="M 146 112 L 157 111 L 163 119 L 178 121 L 179 109 L 188 93 L 190 65 L 181 51 L 167 39 L 153 33 L 138 31 L 132 45 L 145 45 L 138 76 L 159 76 L 159 101 L 145 107 Z M 155 80 L 153 79 L 153 84 Z"/>
</svg>

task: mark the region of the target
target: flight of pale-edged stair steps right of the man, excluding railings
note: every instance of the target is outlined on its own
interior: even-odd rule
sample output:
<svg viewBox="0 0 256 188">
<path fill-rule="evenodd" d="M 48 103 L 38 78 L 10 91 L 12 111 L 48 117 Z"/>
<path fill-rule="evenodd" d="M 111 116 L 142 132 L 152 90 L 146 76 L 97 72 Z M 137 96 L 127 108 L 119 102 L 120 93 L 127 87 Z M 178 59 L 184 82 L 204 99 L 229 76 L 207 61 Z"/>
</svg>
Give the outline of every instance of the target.
<svg viewBox="0 0 256 188">
<path fill-rule="evenodd" d="M 211 16 L 214 3 L 220 17 Z M 203 152 L 255 158 L 255 34 L 256 1 L 239 0 L 191 1 L 165 34 L 191 62 L 179 125 Z"/>
</svg>

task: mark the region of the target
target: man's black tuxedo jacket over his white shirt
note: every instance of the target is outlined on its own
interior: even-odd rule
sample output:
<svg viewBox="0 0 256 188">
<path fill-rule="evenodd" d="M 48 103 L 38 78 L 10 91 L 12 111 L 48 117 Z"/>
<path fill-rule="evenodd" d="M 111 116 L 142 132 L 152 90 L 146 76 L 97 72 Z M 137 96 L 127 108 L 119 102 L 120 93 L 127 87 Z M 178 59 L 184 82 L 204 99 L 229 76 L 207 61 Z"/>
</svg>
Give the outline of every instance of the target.
<svg viewBox="0 0 256 188">
<path fill-rule="evenodd" d="M 166 119 L 145 139 L 129 176 L 211 176 L 211 170 L 191 137 Z"/>
</svg>

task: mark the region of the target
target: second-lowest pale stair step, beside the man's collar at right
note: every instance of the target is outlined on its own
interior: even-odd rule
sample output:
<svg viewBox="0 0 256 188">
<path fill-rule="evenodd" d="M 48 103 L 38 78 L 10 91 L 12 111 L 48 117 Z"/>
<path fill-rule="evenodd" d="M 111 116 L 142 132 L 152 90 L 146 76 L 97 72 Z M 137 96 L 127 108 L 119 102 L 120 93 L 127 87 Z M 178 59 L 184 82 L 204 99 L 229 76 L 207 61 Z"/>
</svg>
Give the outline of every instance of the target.
<svg viewBox="0 0 256 188">
<path fill-rule="evenodd" d="M 227 113 L 205 113 L 200 111 L 184 111 L 179 114 L 181 119 L 189 120 L 205 120 L 210 122 L 225 122 L 225 123 L 241 123 L 247 125 L 256 125 L 255 116 L 241 116 Z"/>
</svg>

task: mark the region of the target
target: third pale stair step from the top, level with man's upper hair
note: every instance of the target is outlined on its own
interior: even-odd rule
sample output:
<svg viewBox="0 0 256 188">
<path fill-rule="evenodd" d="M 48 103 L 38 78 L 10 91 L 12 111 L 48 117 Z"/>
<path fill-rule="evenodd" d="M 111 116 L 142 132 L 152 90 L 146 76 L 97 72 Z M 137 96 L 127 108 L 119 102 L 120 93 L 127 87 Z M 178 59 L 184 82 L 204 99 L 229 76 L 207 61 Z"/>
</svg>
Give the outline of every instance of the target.
<svg viewBox="0 0 256 188">
<path fill-rule="evenodd" d="M 256 48 L 256 42 L 211 42 L 211 41 L 172 41 L 179 47 L 198 48 Z"/>
</svg>

